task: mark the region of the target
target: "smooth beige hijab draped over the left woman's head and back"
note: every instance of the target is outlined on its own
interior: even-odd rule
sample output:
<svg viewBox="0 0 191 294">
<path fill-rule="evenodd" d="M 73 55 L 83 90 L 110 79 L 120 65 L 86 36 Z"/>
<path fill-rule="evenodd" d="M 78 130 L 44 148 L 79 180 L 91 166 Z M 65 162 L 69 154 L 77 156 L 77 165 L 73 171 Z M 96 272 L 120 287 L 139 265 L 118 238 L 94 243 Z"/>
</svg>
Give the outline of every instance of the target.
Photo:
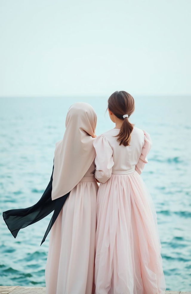
<svg viewBox="0 0 191 294">
<path fill-rule="evenodd" d="M 70 192 L 93 163 L 96 123 L 90 104 L 77 102 L 69 108 L 64 137 L 56 143 L 54 153 L 52 200 Z"/>
</svg>

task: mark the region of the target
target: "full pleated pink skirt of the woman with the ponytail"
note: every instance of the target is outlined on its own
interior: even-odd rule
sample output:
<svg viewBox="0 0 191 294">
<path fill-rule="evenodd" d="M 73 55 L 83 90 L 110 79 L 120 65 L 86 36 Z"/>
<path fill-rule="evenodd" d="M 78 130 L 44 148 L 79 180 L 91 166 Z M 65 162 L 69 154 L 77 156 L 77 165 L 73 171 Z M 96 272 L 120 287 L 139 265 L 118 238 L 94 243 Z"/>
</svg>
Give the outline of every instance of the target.
<svg viewBox="0 0 191 294">
<path fill-rule="evenodd" d="M 95 293 L 164 293 L 156 212 L 139 174 L 100 184 L 96 210 Z"/>
</svg>

